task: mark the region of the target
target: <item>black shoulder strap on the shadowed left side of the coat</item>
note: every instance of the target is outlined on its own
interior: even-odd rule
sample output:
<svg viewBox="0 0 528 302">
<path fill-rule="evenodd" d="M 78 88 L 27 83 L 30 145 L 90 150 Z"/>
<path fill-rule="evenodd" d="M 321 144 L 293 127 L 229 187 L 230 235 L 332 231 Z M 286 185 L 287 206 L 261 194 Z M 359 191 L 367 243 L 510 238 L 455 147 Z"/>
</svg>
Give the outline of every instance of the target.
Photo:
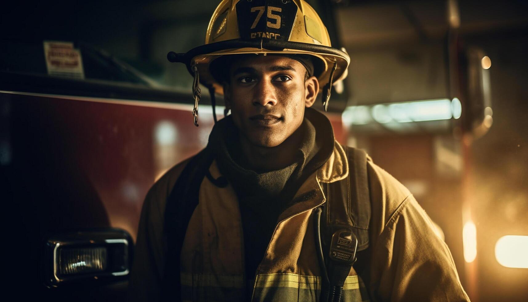
<svg viewBox="0 0 528 302">
<path fill-rule="evenodd" d="M 164 237 L 167 243 L 163 277 L 163 299 L 180 300 L 180 254 L 187 225 L 198 205 L 200 185 L 213 162 L 205 148 L 185 166 L 165 205 Z"/>
</svg>

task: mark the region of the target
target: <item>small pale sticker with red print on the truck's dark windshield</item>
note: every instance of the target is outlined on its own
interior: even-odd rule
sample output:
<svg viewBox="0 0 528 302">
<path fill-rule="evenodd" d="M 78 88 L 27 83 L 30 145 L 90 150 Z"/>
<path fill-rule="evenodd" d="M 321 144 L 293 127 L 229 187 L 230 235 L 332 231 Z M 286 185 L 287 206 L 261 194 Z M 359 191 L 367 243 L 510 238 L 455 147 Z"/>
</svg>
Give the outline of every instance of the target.
<svg viewBox="0 0 528 302">
<path fill-rule="evenodd" d="M 44 41 L 44 57 L 48 75 L 84 79 L 81 51 L 73 42 Z"/>
</svg>

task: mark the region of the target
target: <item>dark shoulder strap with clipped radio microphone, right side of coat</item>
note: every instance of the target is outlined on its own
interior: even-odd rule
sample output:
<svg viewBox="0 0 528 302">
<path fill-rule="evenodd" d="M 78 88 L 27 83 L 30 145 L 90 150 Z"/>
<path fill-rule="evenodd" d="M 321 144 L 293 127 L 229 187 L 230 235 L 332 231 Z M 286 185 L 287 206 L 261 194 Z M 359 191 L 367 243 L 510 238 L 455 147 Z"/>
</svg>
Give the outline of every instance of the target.
<svg viewBox="0 0 528 302">
<path fill-rule="evenodd" d="M 326 256 L 319 257 L 323 262 L 322 268 L 326 270 L 326 282 L 320 297 L 322 301 L 341 301 L 344 282 L 351 268 L 354 267 L 365 279 L 367 276 L 363 272 L 368 271 L 365 267 L 370 263 L 371 204 L 367 155 L 355 148 L 344 147 L 344 150 L 348 160 L 348 177 L 326 186 L 323 209 Z M 316 244 L 320 244 L 317 237 Z"/>
</svg>

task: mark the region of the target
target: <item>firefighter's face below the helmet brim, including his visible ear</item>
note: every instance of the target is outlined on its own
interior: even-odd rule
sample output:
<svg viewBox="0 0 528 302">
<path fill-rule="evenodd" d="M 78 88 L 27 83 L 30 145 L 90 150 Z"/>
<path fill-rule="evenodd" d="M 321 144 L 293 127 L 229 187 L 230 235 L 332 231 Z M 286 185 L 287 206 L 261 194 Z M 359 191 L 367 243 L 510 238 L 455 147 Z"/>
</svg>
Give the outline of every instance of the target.
<svg viewBox="0 0 528 302">
<path fill-rule="evenodd" d="M 232 63 L 224 87 L 233 122 L 258 147 L 276 147 L 289 138 L 318 90 L 317 78 L 306 79 L 300 62 L 269 55 L 244 56 Z"/>
</svg>

